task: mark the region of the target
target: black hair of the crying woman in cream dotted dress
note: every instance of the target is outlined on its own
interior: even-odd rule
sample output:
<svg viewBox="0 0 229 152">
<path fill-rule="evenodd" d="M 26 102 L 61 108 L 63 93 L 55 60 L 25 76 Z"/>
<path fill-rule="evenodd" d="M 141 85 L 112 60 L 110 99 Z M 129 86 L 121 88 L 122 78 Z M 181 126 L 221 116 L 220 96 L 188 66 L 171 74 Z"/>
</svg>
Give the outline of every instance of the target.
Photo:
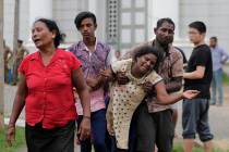
<svg viewBox="0 0 229 152">
<path fill-rule="evenodd" d="M 136 61 L 137 58 L 141 58 L 145 54 L 154 54 L 157 58 L 157 62 L 154 66 L 154 69 L 157 72 L 161 59 L 159 51 L 157 51 L 154 47 L 146 46 L 141 48 L 136 53 L 134 53 L 133 60 Z"/>
</svg>

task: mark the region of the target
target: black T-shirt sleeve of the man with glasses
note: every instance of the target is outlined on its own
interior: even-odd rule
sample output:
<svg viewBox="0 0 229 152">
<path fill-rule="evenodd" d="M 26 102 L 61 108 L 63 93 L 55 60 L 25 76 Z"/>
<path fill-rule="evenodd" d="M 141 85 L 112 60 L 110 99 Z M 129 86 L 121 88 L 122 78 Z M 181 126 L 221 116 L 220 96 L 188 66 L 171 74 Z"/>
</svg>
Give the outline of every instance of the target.
<svg viewBox="0 0 229 152">
<path fill-rule="evenodd" d="M 195 65 L 196 66 L 207 66 L 207 60 L 208 60 L 208 54 L 207 51 L 205 50 L 197 50 L 196 53 L 196 61 L 195 61 Z"/>
</svg>

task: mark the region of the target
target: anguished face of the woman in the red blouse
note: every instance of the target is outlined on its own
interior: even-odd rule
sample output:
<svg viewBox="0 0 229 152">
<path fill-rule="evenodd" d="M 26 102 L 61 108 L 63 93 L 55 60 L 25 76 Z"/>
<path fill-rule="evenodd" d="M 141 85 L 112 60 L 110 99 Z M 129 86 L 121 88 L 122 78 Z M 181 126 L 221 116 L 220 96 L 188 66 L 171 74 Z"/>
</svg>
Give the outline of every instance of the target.
<svg viewBox="0 0 229 152">
<path fill-rule="evenodd" d="M 55 45 L 53 39 L 56 34 L 50 31 L 43 22 L 35 22 L 32 29 L 32 39 L 38 49 L 45 49 L 50 45 Z"/>
</svg>

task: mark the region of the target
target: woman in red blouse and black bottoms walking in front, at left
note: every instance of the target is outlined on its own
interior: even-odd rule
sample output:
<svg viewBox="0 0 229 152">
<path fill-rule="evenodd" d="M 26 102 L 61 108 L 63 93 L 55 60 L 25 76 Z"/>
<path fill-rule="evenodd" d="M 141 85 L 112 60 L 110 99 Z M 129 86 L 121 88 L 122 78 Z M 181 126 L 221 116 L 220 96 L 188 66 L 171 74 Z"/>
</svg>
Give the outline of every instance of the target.
<svg viewBox="0 0 229 152">
<path fill-rule="evenodd" d="M 20 83 L 8 126 L 8 143 L 14 139 L 15 122 L 25 105 L 28 152 L 73 152 L 77 116 L 73 87 L 84 111 L 77 134 L 81 140 L 91 134 L 89 93 L 81 63 L 71 52 L 58 49 L 61 35 L 53 21 L 37 20 L 32 39 L 38 51 L 27 55 L 19 67 Z"/>
</svg>

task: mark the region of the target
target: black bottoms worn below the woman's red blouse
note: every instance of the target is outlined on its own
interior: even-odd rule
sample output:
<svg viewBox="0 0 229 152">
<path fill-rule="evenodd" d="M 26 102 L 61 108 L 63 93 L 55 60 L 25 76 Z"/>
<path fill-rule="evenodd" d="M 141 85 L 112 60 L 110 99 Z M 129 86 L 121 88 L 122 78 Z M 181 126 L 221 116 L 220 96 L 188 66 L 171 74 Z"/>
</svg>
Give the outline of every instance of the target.
<svg viewBox="0 0 229 152">
<path fill-rule="evenodd" d="M 44 129 L 41 123 L 25 126 L 28 152 L 74 152 L 75 121 L 63 127 Z"/>
</svg>

